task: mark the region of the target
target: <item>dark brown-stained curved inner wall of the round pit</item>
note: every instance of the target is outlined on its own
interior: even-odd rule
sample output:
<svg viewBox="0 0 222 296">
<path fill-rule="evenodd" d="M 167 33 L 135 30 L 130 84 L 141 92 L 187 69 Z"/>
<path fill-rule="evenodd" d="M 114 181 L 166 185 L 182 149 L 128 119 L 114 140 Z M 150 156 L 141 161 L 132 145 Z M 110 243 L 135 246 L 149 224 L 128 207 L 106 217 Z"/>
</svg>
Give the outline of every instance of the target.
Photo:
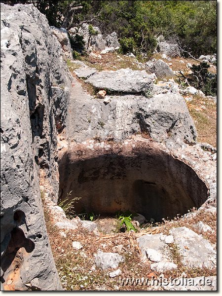
<svg viewBox="0 0 222 296">
<path fill-rule="evenodd" d="M 71 148 L 59 163 L 60 199 L 70 193 L 76 214 L 130 210 L 161 222 L 199 208 L 208 187 L 187 164 L 155 147 L 89 151 Z"/>
</svg>

